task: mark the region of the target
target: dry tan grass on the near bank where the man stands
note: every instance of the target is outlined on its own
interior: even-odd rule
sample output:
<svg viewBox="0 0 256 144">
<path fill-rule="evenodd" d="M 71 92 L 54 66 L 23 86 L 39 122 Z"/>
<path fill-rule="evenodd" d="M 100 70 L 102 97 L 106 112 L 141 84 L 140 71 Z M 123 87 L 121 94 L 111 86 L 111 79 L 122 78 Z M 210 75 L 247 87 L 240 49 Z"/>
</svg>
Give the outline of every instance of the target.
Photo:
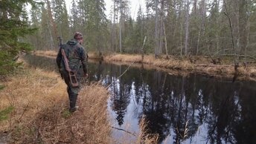
<svg viewBox="0 0 256 144">
<path fill-rule="evenodd" d="M 100 83 L 83 85 L 77 99 L 80 109 L 71 114 L 58 73 L 21 61 L 19 72 L 0 81 L 0 143 L 131 143 L 111 137 L 109 92 Z M 145 133 L 144 125 L 142 120 L 132 143 L 157 141 L 157 135 Z"/>
</svg>

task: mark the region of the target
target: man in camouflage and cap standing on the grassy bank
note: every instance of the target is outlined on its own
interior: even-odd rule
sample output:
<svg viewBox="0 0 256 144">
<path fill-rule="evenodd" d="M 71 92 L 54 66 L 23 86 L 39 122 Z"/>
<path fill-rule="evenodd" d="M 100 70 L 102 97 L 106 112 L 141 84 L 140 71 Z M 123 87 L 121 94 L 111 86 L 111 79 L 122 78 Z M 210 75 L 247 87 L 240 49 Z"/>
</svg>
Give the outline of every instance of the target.
<svg viewBox="0 0 256 144">
<path fill-rule="evenodd" d="M 61 48 L 56 59 L 58 68 L 60 70 L 60 74 L 63 76 L 65 84 L 68 86 L 67 91 L 70 104 L 70 112 L 77 111 L 78 108 L 78 106 L 76 106 L 76 102 L 78 92 L 80 91 L 80 78 L 82 73 L 77 73 L 77 71 L 80 68 L 80 66 L 83 67 L 84 76 L 88 76 L 86 68 L 87 53 L 81 45 L 82 43 L 82 33 L 76 32 L 74 33 L 74 39 L 71 39 L 66 44 L 62 45 L 62 48 L 65 51 L 65 55 L 68 58 L 69 68 L 71 69 L 71 71 L 74 71 L 76 73 L 77 81 L 79 82 L 79 85 L 77 87 L 71 85 L 71 81 L 68 76 L 68 71 L 65 70 L 65 64 L 63 61 L 63 55 L 61 53 Z"/>
</svg>

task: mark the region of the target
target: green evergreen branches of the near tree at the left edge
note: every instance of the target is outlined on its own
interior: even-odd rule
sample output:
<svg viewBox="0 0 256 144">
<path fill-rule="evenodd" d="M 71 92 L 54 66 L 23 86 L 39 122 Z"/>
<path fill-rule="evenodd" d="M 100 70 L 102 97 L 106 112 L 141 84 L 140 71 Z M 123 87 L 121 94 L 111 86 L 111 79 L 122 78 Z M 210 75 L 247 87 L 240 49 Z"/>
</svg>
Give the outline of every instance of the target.
<svg viewBox="0 0 256 144">
<path fill-rule="evenodd" d="M 29 27 L 26 21 L 28 16 L 23 9 L 25 4 L 35 6 L 36 1 L 0 1 L 0 74 L 13 70 L 16 65 L 13 57 L 19 51 L 31 50 L 31 47 L 20 39 L 36 30 Z"/>
</svg>

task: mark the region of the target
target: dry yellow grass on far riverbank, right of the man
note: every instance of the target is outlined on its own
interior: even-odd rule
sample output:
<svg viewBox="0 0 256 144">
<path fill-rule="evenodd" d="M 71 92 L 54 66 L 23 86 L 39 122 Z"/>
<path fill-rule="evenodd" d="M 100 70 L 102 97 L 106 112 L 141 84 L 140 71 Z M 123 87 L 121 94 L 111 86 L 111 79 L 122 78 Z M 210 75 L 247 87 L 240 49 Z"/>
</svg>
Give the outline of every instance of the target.
<svg viewBox="0 0 256 144">
<path fill-rule="evenodd" d="M 156 68 L 167 68 L 168 70 L 181 70 L 194 73 L 207 73 L 219 76 L 234 76 L 234 66 L 228 65 L 212 65 L 210 58 L 195 57 L 192 64 L 189 59 L 178 59 L 170 56 L 169 59 L 156 59 L 153 55 L 146 55 L 142 61 L 141 55 L 113 54 L 104 57 L 106 62 L 132 62 L 153 65 Z M 247 68 L 242 66 L 238 69 L 240 76 L 256 76 L 256 68 L 249 65 Z"/>
</svg>

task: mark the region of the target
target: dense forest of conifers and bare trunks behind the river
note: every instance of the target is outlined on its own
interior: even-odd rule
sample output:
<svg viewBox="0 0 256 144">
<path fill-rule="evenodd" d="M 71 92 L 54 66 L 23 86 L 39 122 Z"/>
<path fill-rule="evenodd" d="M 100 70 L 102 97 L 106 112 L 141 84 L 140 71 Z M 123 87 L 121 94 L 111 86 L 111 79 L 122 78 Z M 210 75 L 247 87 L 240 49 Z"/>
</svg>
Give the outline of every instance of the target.
<svg viewBox="0 0 256 144">
<path fill-rule="evenodd" d="M 66 42 L 76 31 L 84 34 L 89 52 L 255 61 L 255 0 L 145 3 L 146 10 L 138 6 L 132 16 L 129 0 L 113 0 L 106 16 L 103 0 L 72 0 L 69 10 L 61 0 L 0 1 L 0 66 L 14 65 L 20 50 L 58 50 L 57 36 Z"/>
</svg>

